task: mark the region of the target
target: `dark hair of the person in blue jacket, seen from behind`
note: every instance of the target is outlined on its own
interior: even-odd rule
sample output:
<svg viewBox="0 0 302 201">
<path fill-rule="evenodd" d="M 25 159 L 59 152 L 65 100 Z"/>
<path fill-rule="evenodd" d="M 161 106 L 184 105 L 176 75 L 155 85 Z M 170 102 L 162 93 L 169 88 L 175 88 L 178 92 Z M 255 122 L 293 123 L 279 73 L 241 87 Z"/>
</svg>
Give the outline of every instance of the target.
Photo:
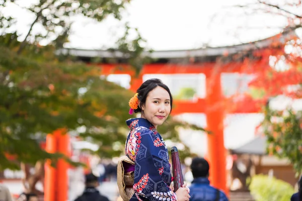
<svg viewBox="0 0 302 201">
<path fill-rule="evenodd" d="M 207 177 L 209 175 L 209 163 L 204 158 L 192 159 L 191 170 L 194 178 Z"/>
</svg>

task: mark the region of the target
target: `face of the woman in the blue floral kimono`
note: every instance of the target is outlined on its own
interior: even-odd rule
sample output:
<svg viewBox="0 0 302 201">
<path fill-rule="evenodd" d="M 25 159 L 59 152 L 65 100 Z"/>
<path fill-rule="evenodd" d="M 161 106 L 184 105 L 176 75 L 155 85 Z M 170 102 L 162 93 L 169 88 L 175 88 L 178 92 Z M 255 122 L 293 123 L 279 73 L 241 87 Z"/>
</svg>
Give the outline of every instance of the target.
<svg viewBox="0 0 302 201">
<path fill-rule="evenodd" d="M 150 91 L 142 106 L 141 117 L 152 123 L 155 128 L 162 125 L 171 112 L 170 95 L 166 89 L 157 86 Z"/>
</svg>

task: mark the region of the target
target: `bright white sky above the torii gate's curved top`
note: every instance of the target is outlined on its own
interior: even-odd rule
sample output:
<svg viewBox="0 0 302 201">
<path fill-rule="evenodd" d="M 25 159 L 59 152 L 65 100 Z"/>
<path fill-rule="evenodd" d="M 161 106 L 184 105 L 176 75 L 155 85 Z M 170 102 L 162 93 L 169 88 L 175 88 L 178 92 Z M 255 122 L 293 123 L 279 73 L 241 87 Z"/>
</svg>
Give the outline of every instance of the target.
<svg viewBox="0 0 302 201">
<path fill-rule="evenodd" d="M 23 6 L 37 0 L 16 0 Z M 246 15 L 234 5 L 255 2 L 255 0 L 132 0 L 123 14 L 132 28 L 138 28 L 147 45 L 154 50 L 192 49 L 210 46 L 224 46 L 250 42 L 274 35 L 286 25 L 283 17 L 269 15 Z M 228 7 L 228 10 L 226 10 Z M 228 12 L 226 12 L 228 11 Z M 23 35 L 34 20 L 34 16 L 13 4 L 4 11 L 18 19 L 18 30 Z M 217 17 L 211 21 L 211 18 Z M 117 36 L 123 34 L 122 23 L 108 18 L 97 23 L 84 17 L 72 18 L 72 34 L 68 47 L 103 49 L 114 46 Z M 245 27 L 253 29 L 245 29 Z M 41 27 L 36 26 L 34 32 Z M 21 36 L 22 38 L 22 36 Z"/>
</svg>

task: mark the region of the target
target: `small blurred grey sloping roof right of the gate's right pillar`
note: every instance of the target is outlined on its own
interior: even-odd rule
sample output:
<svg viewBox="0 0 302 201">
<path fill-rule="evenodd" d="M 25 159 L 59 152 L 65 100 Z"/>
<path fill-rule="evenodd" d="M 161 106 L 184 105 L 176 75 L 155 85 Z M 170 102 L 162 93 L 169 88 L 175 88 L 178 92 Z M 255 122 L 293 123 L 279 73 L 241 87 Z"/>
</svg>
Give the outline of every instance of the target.
<svg viewBox="0 0 302 201">
<path fill-rule="evenodd" d="M 266 155 L 266 137 L 258 135 L 252 141 L 245 145 L 233 149 L 234 154 L 254 154 L 254 155 Z"/>
</svg>

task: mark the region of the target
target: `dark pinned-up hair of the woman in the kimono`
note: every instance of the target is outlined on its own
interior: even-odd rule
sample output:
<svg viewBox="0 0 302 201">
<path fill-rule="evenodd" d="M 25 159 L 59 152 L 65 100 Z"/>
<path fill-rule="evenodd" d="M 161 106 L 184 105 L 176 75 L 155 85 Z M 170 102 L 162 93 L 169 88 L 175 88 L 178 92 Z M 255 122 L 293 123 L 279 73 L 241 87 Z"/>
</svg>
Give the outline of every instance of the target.
<svg viewBox="0 0 302 201">
<path fill-rule="evenodd" d="M 136 93 L 138 93 L 137 98 L 140 101 L 140 104 L 139 104 L 138 108 L 136 110 L 134 110 L 134 113 L 141 112 L 141 106 L 143 106 L 146 103 L 148 93 L 150 91 L 152 91 L 153 89 L 155 89 L 157 86 L 160 86 L 160 87 L 166 89 L 166 91 L 168 91 L 168 93 L 170 95 L 170 106 L 171 106 L 171 111 L 172 111 L 173 98 L 172 98 L 172 94 L 170 92 L 169 87 L 166 84 L 164 84 L 162 82 L 162 80 L 153 78 L 153 79 L 148 79 L 148 80 L 144 81 L 140 85 L 140 87 L 136 90 Z M 170 111 L 170 113 L 171 113 L 171 111 Z"/>
</svg>

